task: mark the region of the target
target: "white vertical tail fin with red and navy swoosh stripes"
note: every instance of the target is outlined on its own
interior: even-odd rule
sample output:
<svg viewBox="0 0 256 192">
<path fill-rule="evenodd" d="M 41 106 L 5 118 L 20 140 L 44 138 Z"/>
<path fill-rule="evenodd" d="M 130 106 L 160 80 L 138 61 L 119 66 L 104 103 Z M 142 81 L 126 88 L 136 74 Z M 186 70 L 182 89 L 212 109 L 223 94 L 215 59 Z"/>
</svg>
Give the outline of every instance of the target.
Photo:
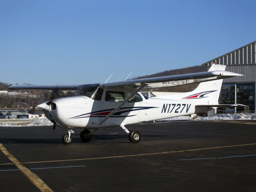
<svg viewBox="0 0 256 192">
<path fill-rule="evenodd" d="M 212 65 L 208 71 L 225 71 L 225 65 Z M 220 96 L 220 89 L 222 85 L 222 79 L 212 80 L 207 82 L 202 82 L 198 87 L 191 91 L 185 93 L 177 93 L 168 96 L 158 97 L 166 99 L 175 99 L 175 100 L 194 100 L 199 101 L 208 105 L 218 104 L 218 99 Z"/>
</svg>

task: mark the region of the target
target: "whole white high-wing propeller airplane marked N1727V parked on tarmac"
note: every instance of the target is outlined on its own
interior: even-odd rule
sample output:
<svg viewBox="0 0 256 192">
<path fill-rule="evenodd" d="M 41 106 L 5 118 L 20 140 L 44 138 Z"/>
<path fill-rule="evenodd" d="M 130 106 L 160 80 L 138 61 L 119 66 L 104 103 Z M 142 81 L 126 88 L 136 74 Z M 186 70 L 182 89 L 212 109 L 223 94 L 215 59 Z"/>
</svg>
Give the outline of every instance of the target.
<svg viewBox="0 0 256 192">
<path fill-rule="evenodd" d="M 213 107 L 235 107 L 239 104 L 218 104 L 222 80 L 243 76 L 225 71 L 226 66 L 213 64 L 208 72 L 124 80 L 101 84 L 84 85 L 27 85 L 10 86 L 9 89 L 52 90 L 58 98 L 46 101 L 38 107 L 46 117 L 68 133 L 62 137 L 70 144 L 73 128 L 81 128 L 80 138 L 88 142 L 100 128 L 121 127 L 130 142 L 140 141 L 140 133 L 129 131 L 125 126 L 177 116 L 207 112 Z M 184 93 L 148 98 L 139 91 L 143 88 L 158 88 L 198 83 L 199 86 Z M 59 98 L 57 90 L 76 90 L 71 97 Z M 93 130 L 92 132 L 89 130 Z"/>
</svg>

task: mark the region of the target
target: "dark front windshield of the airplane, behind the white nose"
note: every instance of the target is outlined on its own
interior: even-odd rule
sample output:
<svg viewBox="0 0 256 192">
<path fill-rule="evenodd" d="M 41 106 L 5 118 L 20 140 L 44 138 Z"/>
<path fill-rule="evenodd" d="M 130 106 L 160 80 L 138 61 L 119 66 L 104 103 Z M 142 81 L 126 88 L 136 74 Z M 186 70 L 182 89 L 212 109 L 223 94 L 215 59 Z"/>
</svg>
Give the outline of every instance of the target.
<svg viewBox="0 0 256 192">
<path fill-rule="evenodd" d="M 99 88 L 99 84 L 80 85 L 74 92 L 73 96 L 86 96 L 93 100 L 101 100 L 103 89 Z"/>
</svg>

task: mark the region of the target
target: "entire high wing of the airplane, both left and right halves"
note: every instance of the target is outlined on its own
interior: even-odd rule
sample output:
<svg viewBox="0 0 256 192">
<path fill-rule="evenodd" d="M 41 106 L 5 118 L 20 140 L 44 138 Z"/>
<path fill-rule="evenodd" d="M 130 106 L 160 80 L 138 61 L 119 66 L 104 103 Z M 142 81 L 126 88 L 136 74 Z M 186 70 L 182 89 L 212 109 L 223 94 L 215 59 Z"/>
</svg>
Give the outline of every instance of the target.
<svg viewBox="0 0 256 192">
<path fill-rule="evenodd" d="M 184 84 L 192 84 L 199 82 L 206 82 L 217 79 L 230 78 L 234 76 L 243 76 L 228 71 L 208 71 L 200 73 L 180 74 L 163 77 L 143 78 L 126 80 L 119 82 L 110 82 L 100 84 L 100 88 L 107 89 L 122 89 L 122 90 L 136 90 L 142 84 L 143 88 L 158 88 L 158 87 L 170 87 L 179 86 Z M 12 85 L 8 89 L 20 90 L 20 89 L 35 89 L 35 90 L 76 90 L 81 84 L 75 85 Z"/>
</svg>

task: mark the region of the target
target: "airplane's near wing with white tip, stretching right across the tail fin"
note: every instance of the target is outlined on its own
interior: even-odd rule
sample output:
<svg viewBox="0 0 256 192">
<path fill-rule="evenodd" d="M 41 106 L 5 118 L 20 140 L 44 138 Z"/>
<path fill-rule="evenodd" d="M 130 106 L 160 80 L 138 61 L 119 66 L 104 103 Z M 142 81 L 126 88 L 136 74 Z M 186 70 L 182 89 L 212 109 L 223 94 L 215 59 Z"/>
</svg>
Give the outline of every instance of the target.
<svg viewBox="0 0 256 192">
<path fill-rule="evenodd" d="M 100 84 L 100 88 L 134 90 L 139 88 L 142 84 L 144 84 L 143 88 L 170 87 L 170 86 L 179 86 L 184 84 L 192 84 L 192 83 L 206 82 L 206 81 L 217 80 L 217 79 L 230 78 L 234 76 L 243 76 L 243 75 L 233 73 L 233 72 L 218 70 L 218 71 L 208 71 L 208 72 L 102 83 Z"/>
</svg>

